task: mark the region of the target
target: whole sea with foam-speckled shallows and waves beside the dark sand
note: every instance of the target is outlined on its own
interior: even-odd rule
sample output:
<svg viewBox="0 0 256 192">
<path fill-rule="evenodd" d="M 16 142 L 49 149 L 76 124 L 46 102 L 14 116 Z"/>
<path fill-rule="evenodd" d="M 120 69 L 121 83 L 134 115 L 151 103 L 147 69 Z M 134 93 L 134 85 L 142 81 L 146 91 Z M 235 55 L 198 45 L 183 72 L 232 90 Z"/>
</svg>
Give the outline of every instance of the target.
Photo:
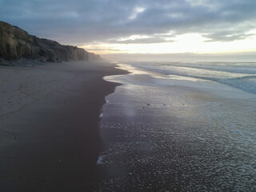
<svg viewBox="0 0 256 192">
<path fill-rule="evenodd" d="M 255 62 L 126 62 L 106 98 L 104 191 L 255 191 Z"/>
</svg>

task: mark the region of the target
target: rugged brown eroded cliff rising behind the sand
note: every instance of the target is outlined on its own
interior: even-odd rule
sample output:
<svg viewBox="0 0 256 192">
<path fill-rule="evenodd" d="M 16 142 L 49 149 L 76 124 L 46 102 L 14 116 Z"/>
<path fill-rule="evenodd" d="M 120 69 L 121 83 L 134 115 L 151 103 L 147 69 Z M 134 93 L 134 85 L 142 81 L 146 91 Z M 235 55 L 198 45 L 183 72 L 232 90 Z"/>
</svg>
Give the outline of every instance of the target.
<svg viewBox="0 0 256 192">
<path fill-rule="evenodd" d="M 49 39 L 37 38 L 6 22 L 0 22 L 0 58 L 38 59 L 40 62 L 101 59 L 77 46 L 62 46 Z"/>
</svg>

